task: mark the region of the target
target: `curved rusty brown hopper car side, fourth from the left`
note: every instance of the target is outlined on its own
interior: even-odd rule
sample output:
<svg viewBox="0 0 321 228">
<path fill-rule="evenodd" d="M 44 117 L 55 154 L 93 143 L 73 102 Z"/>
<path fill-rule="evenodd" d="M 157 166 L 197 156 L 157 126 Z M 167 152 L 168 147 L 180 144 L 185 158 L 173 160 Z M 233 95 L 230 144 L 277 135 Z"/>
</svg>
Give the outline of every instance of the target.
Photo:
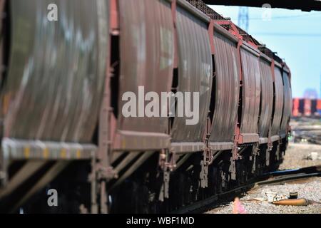
<svg viewBox="0 0 321 228">
<path fill-rule="evenodd" d="M 210 142 L 233 142 L 239 98 L 239 66 L 235 41 L 220 33 L 215 45 L 215 110 Z"/>
</svg>

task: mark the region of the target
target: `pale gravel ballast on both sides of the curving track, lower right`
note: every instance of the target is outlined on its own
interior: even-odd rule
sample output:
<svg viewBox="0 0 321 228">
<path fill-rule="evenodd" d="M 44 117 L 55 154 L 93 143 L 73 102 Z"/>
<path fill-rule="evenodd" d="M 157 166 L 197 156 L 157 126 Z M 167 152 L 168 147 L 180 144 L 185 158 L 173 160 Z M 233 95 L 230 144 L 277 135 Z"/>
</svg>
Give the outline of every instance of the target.
<svg viewBox="0 0 321 228">
<path fill-rule="evenodd" d="M 279 170 L 289 170 L 313 165 L 321 165 L 321 160 L 307 160 L 311 152 L 321 155 L 321 145 L 305 143 L 290 143 L 285 159 Z M 288 196 L 290 192 L 298 192 L 298 198 L 308 199 L 307 206 L 277 206 L 267 201 L 260 201 L 266 197 L 265 192 L 277 192 L 277 195 Z M 258 200 L 260 199 L 260 200 Z M 319 202 L 319 203 L 317 203 Z M 306 180 L 296 180 L 283 185 L 267 185 L 255 187 L 240 197 L 240 204 L 248 214 L 321 214 L 321 177 Z M 206 212 L 208 214 L 232 214 L 233 202 L 219 205 Z"/>
</svg>

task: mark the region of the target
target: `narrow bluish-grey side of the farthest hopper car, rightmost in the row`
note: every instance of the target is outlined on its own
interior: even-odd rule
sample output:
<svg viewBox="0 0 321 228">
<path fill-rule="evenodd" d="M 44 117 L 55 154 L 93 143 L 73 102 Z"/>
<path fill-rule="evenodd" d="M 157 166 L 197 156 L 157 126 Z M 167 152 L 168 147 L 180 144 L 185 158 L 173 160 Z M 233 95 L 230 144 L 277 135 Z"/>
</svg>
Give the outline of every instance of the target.
<svg viewBox="0 0 321 228">
<path fill-rule="evenodd" d="M 283 72 L 283 115 L 281 122 L 280 134 L 285 135 L 287 132 L 287 124 L 290 120 L 290 115 L 292 112 L 292 91 L 290 86 L 289 74 L 287 72 Z"/>
</svg>

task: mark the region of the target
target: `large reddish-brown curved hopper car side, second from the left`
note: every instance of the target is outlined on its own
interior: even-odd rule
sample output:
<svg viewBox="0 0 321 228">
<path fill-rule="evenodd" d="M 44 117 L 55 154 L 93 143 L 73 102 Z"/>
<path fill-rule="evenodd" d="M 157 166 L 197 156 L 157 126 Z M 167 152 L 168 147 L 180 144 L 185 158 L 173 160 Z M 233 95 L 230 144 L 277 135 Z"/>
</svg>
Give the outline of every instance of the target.
<svg viewBox="0 0 321 228">
<path fill-rule="evenodd" d="M 146 115 L 125 118 L 122 107 L 127 101 L 122 100 L 122 95 L 131 91 L 138 98 L 138 86 L 144 86 L 145 93 L 158 93 L 160 98 L 161 92 L 170 91 L 174 58 L 170 3 L 164 0 L 120 0 L 119 10 L 121 74 L 118 129 L 165 133 L 167 118 L 148 118 Z"/>
</svg>

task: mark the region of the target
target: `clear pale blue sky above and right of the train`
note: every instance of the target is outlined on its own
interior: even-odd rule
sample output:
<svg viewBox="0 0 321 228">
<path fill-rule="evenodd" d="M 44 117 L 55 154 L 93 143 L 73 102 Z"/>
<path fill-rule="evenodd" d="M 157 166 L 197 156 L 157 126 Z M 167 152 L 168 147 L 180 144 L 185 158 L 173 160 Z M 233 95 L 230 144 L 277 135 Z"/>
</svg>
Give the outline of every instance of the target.
<svg viewBox="0 0 321 228">
<path fill-rule="evenodd" d="M 238 24 L 238 6 L 210 7 Z M 302 98 L 310 88 L 321 98 L 321 11 L 249 7 L 248 12 L 248 33 L 290 67 L 292 96 Z"/>
</svg>

